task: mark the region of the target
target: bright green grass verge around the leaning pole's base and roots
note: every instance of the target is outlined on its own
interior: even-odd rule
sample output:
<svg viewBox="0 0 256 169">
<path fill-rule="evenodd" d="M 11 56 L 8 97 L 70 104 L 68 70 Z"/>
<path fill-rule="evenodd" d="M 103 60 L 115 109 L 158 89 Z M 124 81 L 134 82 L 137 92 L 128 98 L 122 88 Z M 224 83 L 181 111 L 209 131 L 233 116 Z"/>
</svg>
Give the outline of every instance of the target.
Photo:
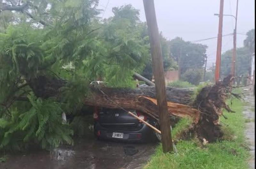
<svg viewBox="0 0 256 169">
<path fill-rule="evenodd" d="M 156 148 L 151 160 L 144 166 L 145 169 L 246 169 L 248 150 L 244 140 L 244 117 L 242 114 L 242 101 L 233 100 L 230 106 L 236 113 L 224 111 L 228 120 L 220 120 L 227 126 L 223 126 L 227 140 L 209 143 L 204 148 L 198 147 L 195 140 L 180 141 L 176 147 L 177 154 L 162 152 L 162 145 Z M 186 123 L 187 124 L 187 123 Z M 180 129 L 179 129 L 180 130 Z M 175 138 L 175 128 L 172 131 Z"/>
</svg>

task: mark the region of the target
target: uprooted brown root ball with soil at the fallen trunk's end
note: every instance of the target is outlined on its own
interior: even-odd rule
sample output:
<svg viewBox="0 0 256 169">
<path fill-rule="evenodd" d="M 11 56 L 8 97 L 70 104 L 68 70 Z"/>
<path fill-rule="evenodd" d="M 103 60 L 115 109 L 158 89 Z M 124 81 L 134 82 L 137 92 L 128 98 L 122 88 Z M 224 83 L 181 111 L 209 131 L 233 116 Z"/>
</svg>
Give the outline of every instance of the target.
<svg viewBox="0 0 256 169">
<path fill-rule="evenodd" d="M 232 80 L 233 77 L 229 75 L 213 86 L 202 88 L 197 95 L 193 106 L 198 107 L 201 115 L 200 120 L 195 125 L 195 132 L 201 142 L 206 140 L 211 143 L 222 139 L 223 131 L 220 129 L 219 121 L 220 116 L 223 115 L 222 110 L 224 108 L 228 112 L 235 113 L 229 108 L 226 101 L 231 95 L 240 98 L 239 95 L 234 95 L 231 92 Z"/>
</svg>

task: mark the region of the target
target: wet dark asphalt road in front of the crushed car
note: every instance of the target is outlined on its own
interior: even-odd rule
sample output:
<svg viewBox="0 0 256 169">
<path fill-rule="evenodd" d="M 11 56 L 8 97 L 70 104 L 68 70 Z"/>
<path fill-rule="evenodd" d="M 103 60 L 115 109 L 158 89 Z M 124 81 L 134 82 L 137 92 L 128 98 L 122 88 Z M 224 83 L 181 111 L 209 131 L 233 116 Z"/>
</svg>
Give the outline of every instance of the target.
<svg viewBox="0 0 256 169">
<path fill-rule="evenodd" d="M 30 151 L 7 156 L 1 169 L 136 169 L 146 164 L 157 143 L 118 143 L 96 140 L 92 135 L 52 152 Z M 136 152 L 127 155 L 126 147 Z M 126 149 L 127 150 L 127 149 Z"/>
</svg>

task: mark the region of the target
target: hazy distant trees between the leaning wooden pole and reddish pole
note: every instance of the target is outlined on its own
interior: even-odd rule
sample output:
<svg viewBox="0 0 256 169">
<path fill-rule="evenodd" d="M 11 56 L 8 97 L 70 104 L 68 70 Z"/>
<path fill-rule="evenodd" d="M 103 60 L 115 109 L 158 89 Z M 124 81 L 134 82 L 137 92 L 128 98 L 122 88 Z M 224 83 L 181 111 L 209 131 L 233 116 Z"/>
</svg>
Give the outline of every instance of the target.
<svg viewBox="0 0 256 169">
<path fill-rule="evenodd" d="M 165 71 L 178 70 L 177 63 L 179 61 L 179 57 L 181 59 L 181 74 L 185 73 L 188 69 L 200 69 L 205 64 L 206 45 L 184 41 L 180 37 L 169 41 L 163 37 L 162 33 L 160 33 L 160 43 Z M 149 76 L 150 73 L 148 73 L 148 71 L 152 71 L 150 64 L 145 67 L 142 76 Z M 201 80 L 201 78 L 197 79 Z"/>
</svg>

